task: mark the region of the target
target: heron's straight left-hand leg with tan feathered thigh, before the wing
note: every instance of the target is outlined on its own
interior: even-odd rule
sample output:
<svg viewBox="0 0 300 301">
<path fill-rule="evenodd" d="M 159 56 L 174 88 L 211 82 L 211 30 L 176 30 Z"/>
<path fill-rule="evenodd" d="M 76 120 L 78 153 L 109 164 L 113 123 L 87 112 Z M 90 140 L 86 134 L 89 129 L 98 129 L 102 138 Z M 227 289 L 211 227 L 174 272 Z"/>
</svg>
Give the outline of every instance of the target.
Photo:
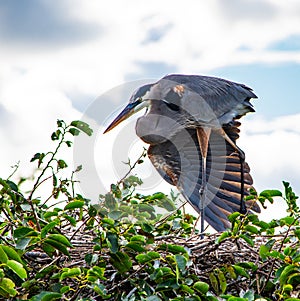
<svg viewBox="0 0 300 301">
<path fill-rule="evenodd" d="M 201 187 L 199 190 L 200 193 L 200 216 L 201 216 L 201 239 L 203 239 L 203 232 L 204 232 L 204 204 L 206 198 L 206 158 L 208 152 L 208 141 L 210 137 L 211 129 L 206 127 L 199 127 L 197 128 L 197 138 L 198 143 L 201 151 L 202 157 L 202 177 L 201 177 Z"/>
</svg>

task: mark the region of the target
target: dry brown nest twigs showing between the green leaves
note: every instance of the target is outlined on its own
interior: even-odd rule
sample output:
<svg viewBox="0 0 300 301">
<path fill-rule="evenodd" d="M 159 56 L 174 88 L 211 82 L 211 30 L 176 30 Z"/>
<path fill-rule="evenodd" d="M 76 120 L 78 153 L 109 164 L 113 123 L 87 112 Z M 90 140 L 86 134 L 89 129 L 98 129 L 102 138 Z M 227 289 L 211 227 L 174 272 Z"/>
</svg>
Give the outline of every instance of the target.
<svg viewBox="0 0 300 301">
<path fill-rule="evenodd" d="M 272 279 L 274 278 L 274 270 L 278 269 L 282 262 L 277 259 L 268 258 L 266 261 L 262 261 L 259 256 L 259 247 L 264 244 L 269 237 L 260 236 L 255 239 L 255 244 L 250 247 L 242 239 L 225 239 L 220 244 L 216 244 L 216 239 L 220 234 L 212 234 L 205 236 L 204 239 L 200 239 L 198 235 L 190 237 L 188 239 L 177 237 L 174 235 L 166 235 L 155 238 L 153 249 L 156 249 L 160 244 L 176 244 L 185 247 L 189 250 L 191 265 L 189 266 L 189 273 L 195 274 L 201 281 L 210 284 L 209 275 L 216 269 L 222 269 L 225 266 L 238 264 L 241 262 L 252 262 L 258 269 L 250 273 L 250 278 L 237 277 L 227 282 L 227 292 L 231 294 L 239 294 L 242 290 L 247 291 L 249 288 L 255 287 L 257 293 L 260 293 L 260 289 L 263 284 L 260 279 Z M 35 273 L 45 266 L 55 263 L 60 267 L 84 267 L 87 266 L 85 261 L 86 254 L 92 254 L 95 243 L 93 240 L 95 237 L 87 233 L 81 233 L 80 231 L 73 236 L 70 236 L 71 243 L 74 248 L 70 249 L 70 257 L 57 254 L 56 257 L 49 258 L 42 252 L 31 252 L 27 254 L 29 264 L 35 271 Z M 279 249 L 282 243 L 283 236 L 274 236 L 276 240 L 273 248 Z M 149 250 L 150 251 L 150 250 Z M 108 251 L 107 251 L 108 252 Z M 128 277 L 119 278 L 116 277 L 116 270 L 111 266 L 109 262 L 109 256 L 107 254 L 99 254 L 101 258 L 106 261 L 105 277 L 109 281 L 105 282 L 105 286 L 108 292 L 113 292 L 116 288 L 126 288 L 126 281 Z M 163 254 L 162 254 L 163 256 Z M 146 277 L 143 268 L 140 266 L 133 267 L 134 272 L 131 273 L 131 278 Z M 255 275 L 254 275 L 255 274 Z M 69 284 L 69 283 L 68 283 Z M 82 294 L 83 292 L 81 292 Z M 85 291 L 84 293 L 91 296 L 94 292 Z"/>
</svg>

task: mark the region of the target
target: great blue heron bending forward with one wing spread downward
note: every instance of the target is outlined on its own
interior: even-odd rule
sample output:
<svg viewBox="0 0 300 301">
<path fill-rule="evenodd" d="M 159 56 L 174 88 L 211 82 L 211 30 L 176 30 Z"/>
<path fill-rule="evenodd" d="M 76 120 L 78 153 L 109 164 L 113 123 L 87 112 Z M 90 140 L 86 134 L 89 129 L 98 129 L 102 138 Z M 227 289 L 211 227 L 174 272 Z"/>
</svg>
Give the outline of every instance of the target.
<svg viewBox="0 0 300 301">
<path fill-rule="evenodd" d="M 243 201 L 253 181 L 236 145 L 237 119 L 254 112 L 251 98 L 252 89 L 225 79 L 167 75 L 137 89 L 104 133 L 147 107 L 136 133 L 150 144 L 151 162 L 201 214 L 202 232 L 204 219 L 223 231 L 232 212 L 260 212 L 255 202 Z"/>
</svg>

